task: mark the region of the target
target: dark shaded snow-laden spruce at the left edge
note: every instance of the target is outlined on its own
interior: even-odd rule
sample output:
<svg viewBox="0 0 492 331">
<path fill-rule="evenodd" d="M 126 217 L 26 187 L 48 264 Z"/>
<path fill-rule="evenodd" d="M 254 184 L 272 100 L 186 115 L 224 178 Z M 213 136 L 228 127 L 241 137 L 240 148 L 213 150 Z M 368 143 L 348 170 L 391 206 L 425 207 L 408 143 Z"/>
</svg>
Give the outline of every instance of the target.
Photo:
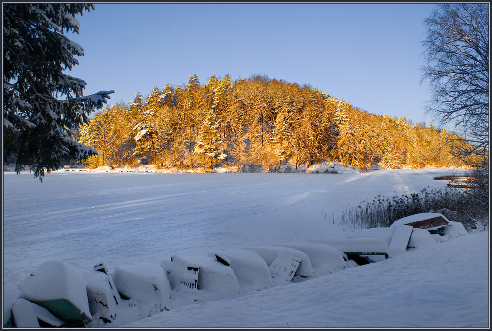
<svg viewBox="0 0 492 331">
<path fill-rule="evenodd" d="M 94 5 L 7 3 L 3 5 L 3 162 L 20 173 L 29 165 L 42 181 L 73 160 L 97 154 L 70 130 L 89 122 L 114 91 L 84 96 L 86 82 L 64 73 L 83 56 L 65 34 L 79 32 L 75 15 Z"/>
</svg>

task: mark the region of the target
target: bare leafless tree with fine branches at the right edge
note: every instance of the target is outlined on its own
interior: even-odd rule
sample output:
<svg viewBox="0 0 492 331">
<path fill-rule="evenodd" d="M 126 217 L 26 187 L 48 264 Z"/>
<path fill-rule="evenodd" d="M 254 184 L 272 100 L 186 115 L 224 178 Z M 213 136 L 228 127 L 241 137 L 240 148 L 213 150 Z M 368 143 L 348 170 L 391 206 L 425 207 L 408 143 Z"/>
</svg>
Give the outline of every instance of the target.
<svg viewBox="0 0 492 331">
<path fill-rule="evenodd" d="M 469 144 L 458 156 L 489 151 L 489 4 L 439 4 L 425 19 L 423 81 L 431 85 L 428 113 L 455 125 Z"/>
</svg>

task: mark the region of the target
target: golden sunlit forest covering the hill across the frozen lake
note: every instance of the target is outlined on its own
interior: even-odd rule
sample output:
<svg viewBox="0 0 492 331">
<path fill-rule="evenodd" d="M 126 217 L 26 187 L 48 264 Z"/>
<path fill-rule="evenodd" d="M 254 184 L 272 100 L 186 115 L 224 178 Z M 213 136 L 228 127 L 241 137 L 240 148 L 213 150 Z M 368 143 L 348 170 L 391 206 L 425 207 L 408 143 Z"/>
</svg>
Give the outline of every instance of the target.
<svg viewBox="0 0 492 331">
<path fill-rule="evenodd" d="M 449 139 L 432 125 L 369 114 L 350 103 L 297 83 L 254 76 L 234 82 L 196 75 L 186 86 L 154 87 L 143 100 L 115 104 L 77 133 L 98 150 L 88 167 L 153 164 L 186 171 L 244 165 L 275 171 L 282 164 L 310 166 L 339 161 L 367 171 L 456 167 Z M 456 142 L 462 143 L 462 142 Z M 457 147 L 457 146 L 455 146 Z"/>
</svg>

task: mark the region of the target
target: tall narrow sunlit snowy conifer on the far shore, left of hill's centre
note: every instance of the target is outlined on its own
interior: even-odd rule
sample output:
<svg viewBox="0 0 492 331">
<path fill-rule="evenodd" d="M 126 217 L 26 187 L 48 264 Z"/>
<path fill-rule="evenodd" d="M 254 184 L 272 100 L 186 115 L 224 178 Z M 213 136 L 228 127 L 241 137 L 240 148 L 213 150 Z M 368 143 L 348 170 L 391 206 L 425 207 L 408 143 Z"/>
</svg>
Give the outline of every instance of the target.
<svg viewBox="0 0 492 331">
<path fill-rule="evenodd" d="M 219 162 L 226 157 L 219 147 L 221 140 L 218 134 L 220 120 L 216 118 L 216 109 L 220 103 L 222 92 L 222 85 L 215 89 L 214 104 L 212 105 L 207 118 L 203 121 L 202 130 L 195 148 L 195 153 L 199 160 L 201 160 L 204 165 L 208 165 L 210 170 L 212 170 L 214 163 Z"/>
</svg>

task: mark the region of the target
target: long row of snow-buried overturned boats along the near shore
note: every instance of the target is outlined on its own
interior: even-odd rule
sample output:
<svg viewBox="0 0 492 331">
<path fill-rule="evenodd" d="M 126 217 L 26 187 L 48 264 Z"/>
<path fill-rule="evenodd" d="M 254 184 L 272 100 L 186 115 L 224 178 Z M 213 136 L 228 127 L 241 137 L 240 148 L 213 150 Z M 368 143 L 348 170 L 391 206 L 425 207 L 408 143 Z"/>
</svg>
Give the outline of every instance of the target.
<svg viewBox="0 0 492 331">
<path fill-rule="evenodd" d="M 416 219 L 418 217 L 407 220 L 415 223 Z M 338 273 L 367 261 L 382 261 L 372 255 L 384 255 L 386 259 L 407 250 L 435 246 L 434 236 L 439 234 L 413 228 L 404 221 L 387 229 L 347 232 L 345 239 L 221 249 L 207 256 L 173 255 L 161 265 L 124 264 L 109 275 L 103 263 L 92 270 L 79 271 L 64 262 L 47 261 L 26 277 L 18 289 L 7 286 L 8 308 L 4 308 L 3 323 L 6 327 L 14 324 L 17 327 L 41 324 L 59 327 L 79 321 L 79 326 L 117 326 L 119 312 L 124 314 L 124 302 L 127 302 L 127 310 L 138 302 L 139 311 L 148 311 L 149 317 L 172 310 L 173 301 L 179 302 L 176 305 L 179 308 L 200 300 L 237 298 L 250 291 Z M 452 232 L 453 236 L 465 234 L 457 224 L 447 226 L 453 225 L 453 230 L 447 232 Z M 361 256 L 372 260 L 364 262 Z"/>
</svg>

